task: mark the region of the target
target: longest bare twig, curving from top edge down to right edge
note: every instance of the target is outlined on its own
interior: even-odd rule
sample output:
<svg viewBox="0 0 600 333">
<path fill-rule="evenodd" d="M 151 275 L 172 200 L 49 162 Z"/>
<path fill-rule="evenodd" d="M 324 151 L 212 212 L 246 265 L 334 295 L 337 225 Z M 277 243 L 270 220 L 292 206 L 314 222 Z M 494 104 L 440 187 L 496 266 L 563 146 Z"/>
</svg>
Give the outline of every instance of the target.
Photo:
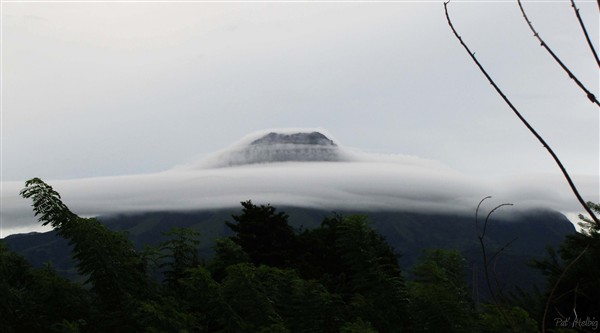
<svg viewBox="0 0 600 333">
<path fill-rule="evenodd" d="M 525 120 L 525 118 L 521 115 L 521 113 L 510 102 L 510 100 L 508 99 L 508 97 L 506 97 L 506 95 L 504 95 L 504 93 L 502 92 L 502 90 L 500 90 L 500 88 L 498 87 L 498 85 L 496 85 L 496 83 L 494 82 L 494 80 L 492 80 L 492 78 L 489 76 L 489 74 L 486 72 L 486 70 L 483 68 L 483 66 L 479 63 L 479 61 L 475 57 L 475 54 L 473 52 L 471 52 L 471 50 L 469 49 L 469 47 L 462 40 L 462 37 L 460 37 L 458 35 L 458 32 L 454 28 L 454 25 L 452 25 L 452 21 L 450 20 L 450 15 L 448 14 L 448 2 L 444 2 L 444 10 L 446 11 L 446 19 L 448 20 L 448 25 L 450 25 L 450 28 L 452 29 L 452 32 L 454 33 L 454 36 L 456 36 L 456 38 L 460 41 L 460 44 L 464 47 L 464 49 L 467 51 L 467 53 L 469 53 L 469 56 L 471 57 L 471 59 L 473 59 L 473 61 L 477 65 L 477 67 L 479 67 L 479 70 L 481 70 L 481 72 L 483 73 L 483 75 L 485 75 L 485 77 L 488 79 L 488 81 L 490 82 L 490 84 L 494 87 L 494 89 L 496 89 L 496 92 L 498 92 L 498 94 L 502 97 L 502 99 L 504 100 L 504 102 L 506 102 L 506 104 L 511 108 L 511 110 L 514 112 L 514 114 L 521 120 L 521 122 L 525 125 L 525 127 L 527 127 L 527 129 L 531 132 L 531 134 L 533 134 L 538 139 L 538 141 L 544 146 L 544 148 L 546 148 L 546 150 L 548 150 L 548 153 L 550 154 L 550 156 L 552 156 L 552 158 L 554 159 L 554 161 L 556 162 L 556 164 L 560 168 L 560 171 L 562 172 L 563 176 L 565 177 L 565 179 L 569 183 L 569 186 L 571 187 L 571 190 L 575 194 L 575 197 L 577 198 L 577 200 L 579 201 L 579 203 L 581 204 L 581 206 L 585 209 L 585 211 L 594 220 L 594 223 L 596 223 L 596 225 L 600 228 L 600 220 L 598 220 L 598 217 L 596 217 L 596 215 L 594 214 L 594 212 L 592 212 L 592 210 L 590 209 L 590 207 L 588 207 L 588 205 L 586 204 L 585 200 L 583 200 L 583 198 L 579 194 L 579 191 L 577 190 L 577 187 L 575 186 L 575 183 L 573 183 L 573 180 L 571 179 L 571 176 L 569 175 L 569 173 L 567 172 L 567 170 L 563 166 L 563 164 L 560 161 L 560 159 L 558 158 L 558 156 L 554 153 L 554 151 L 552 150 L 552 148 L 550 148 L 550 146 L 546 143 L 546 141 L 544 140 L 544 138 L 542 138 L 542 136 L 539 135 L 536 132 L 536 130 L 529 124 L 529 122 L 527 122 L 527 120 Z"/>
</svg>

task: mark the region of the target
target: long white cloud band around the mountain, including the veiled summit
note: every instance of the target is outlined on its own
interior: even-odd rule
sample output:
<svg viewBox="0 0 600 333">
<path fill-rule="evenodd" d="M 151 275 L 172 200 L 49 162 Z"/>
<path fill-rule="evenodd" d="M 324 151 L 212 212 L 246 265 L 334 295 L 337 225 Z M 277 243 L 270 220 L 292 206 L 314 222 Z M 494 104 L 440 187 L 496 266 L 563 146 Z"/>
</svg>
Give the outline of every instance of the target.
<svg viewBox="0 0 600 333">
<path fill-rule="evenodd" d="M 326 210 L 470 215 L 487 195 L 514 203 L 513 212 L 580 211 L 562 183 L 540 176 L 474 179 L 437 161 L 354 151 L 323 129 L 254 133 L 199 162 L 160 173 L 45 181 L 82 216 L 231 208 L 248 199 Z M 23 182 L 2 185 L 2 236 L 46 230 L 18 195 Z M 580 186 L 593 197 L 593 180 Z"/>
</svg>

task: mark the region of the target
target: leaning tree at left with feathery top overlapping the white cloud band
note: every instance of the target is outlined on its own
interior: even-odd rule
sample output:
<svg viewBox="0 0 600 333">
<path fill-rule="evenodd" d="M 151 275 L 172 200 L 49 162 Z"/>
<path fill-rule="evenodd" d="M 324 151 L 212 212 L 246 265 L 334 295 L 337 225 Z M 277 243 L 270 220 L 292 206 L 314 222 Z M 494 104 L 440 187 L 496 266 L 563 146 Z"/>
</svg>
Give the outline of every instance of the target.
<svg viewBox="0 0 600 333">
<path fill-rule="evenodd" d="M 39 178 L 25 182 L 24 198 L 33 200 L 33 211 L 42 225 L 50 224 L 73 246 L 77 269 L 103 309 L 97 327 L 114 332 L 136 330 L 133 315 L 149 291 L 146 263 L 122 233 L 107 229 L 94 218 L 71 212 L 60 194 Z"/>
</svg>

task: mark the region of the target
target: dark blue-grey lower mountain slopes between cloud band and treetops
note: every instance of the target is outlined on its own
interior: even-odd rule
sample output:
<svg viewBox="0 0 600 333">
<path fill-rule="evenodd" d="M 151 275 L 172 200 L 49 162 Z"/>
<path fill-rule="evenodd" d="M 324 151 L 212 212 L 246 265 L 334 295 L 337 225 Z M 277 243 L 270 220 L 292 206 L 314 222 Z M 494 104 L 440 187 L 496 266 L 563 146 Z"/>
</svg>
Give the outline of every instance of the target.
<svg viewBox="0 0 600 333">
<path fill-rule="evenodd" d="M 279 210 L 290 216 L 290 224 L 297 230 L 316 227 L 325 217 L 333 214 L 327 210 L 299 207 L 280 207 Z M 231 235 L 224 222 L 232 221 L 231 214 L 239 213 L 240 209 L 154 212 L 115 215 L 102 218 L 102 221 L 113 230 L 126 232 L 138 249 L 143 249 L 145 245 L 158 245 L 164 240 L 162 232 L 174 226 L 197 230 L 202 236 L 201 253 L 209 258 L 215 239 Z M 348 215 L 362 212 L 338 213 Z M 469 282 L 480 286 L 480 294 L 485 297 L 482 252 L 473 217 L 400 211 L 370 212 L 367 215 L 372 227 L 400 254 L 399 262 L 405 272 L 409 272 L 425 249 L 458 249 L 467 259 Z M 573 224 L 562 214 L 552 211 L 527 211 L 491 219 L 485 238 L 488 253 L 493 255 L 512 241 L 502 251 L 495 269 L 505 290 L 515 286 L 525 290 L 531 290 L 533 286 L 542 288 L 544 277 L 528 264 L 533 259 L 545 257 L 548 246 L 557 248 L 564 236 L 573 232 Z M 61 274 L 77 278 L 68 244 L 54 232 L 11 235 L 5 238 L 5 242 L 34 266 L 39 267 L 50 261 Z"/>
</svg>

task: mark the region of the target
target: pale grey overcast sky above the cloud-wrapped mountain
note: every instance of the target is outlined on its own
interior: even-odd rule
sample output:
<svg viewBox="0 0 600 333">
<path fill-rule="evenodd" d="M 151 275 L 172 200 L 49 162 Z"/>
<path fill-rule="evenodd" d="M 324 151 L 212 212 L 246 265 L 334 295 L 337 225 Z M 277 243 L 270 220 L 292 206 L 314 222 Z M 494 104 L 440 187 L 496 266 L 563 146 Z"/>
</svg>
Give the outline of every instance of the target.
<svg viewBox="0 0 600 333">
<path fill-rule="evenodd" d="M 570 3 L 524 4 L 547 44 L 598 92 L 598 69 Z M 577 4 L 598 41 L 596 2 Z M 547 204 L 576 211 L 551 157 L 453 36 L 442 2 L 0 6 L 5 234 L 15 230 L 10 209 L 26 179 L 77 183 L 80 192 L 104 186 L 108 196 L 111 186 L 116 191 L 127 183 L 119 180 L 166 182 L 153 175 L 203 160 L 248 133 L 289 127 L 326 129 L 357 151 L 441 164 L 419 179 L 460 178 L 469 200 L 498 192 L 544 201 L 550 189 L 562 201 Z M 449 10 L 465 42 L 555 149 L 586 199 L 599 201 L 599 110 L 540 47 L 517 4 L 456 1 Z M 363 183 L 377 170 L 355 169 L 352 176 Z M 296 172 L 290 170 L 281 177 Z M 398 179 L 412 175 L 390 172 Z M 189 183 L 185 177 L 196 176 L 177 177 Z M 464 185 L 471 182 L 479 185 Z M 524 184 L 536 190 L 519 193 L 539 197 L 517 195 Z M 470 190 L 478 186 L 485 191 Z M 433 198 L 434 192 L 427 193 Z M 145 204 L 161 200 L 168 201 L 158 196 Z"/>
</svg>

